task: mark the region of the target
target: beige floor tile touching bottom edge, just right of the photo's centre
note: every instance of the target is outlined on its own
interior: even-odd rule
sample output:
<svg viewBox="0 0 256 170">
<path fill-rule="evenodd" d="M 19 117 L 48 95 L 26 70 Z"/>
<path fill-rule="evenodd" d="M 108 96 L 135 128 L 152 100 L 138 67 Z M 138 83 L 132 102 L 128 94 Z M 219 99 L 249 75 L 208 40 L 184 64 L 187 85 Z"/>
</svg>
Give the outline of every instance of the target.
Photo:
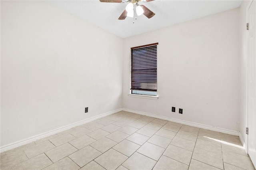
<svg viewBox="0 0 256 170">
<path fill-rule="evenodd" d="M 155 160 L 135 152 L 122 164 L 122 166 L 129 170 L 152 170 L 155 164 Z"/>
</svg>

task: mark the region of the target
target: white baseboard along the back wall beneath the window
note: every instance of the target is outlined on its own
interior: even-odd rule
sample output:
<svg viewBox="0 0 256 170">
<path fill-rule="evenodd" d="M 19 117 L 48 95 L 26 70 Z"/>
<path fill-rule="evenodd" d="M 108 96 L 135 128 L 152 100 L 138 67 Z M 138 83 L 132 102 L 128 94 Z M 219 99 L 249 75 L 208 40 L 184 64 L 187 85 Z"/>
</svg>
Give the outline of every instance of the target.
<svg viewBox="0 0 256 170">
<path fill-rule="evenodd" d="M 189 125 L 189 126 L 192 126 L 192 127 L 199 127 L 199 128 L 204 128 L 204 129 L 208 129 L 208 130 L 213 130 L 213 131 L 216 131 L 216 132 L 222 132 L 222 133 L 232 134 L 232 135 L 236 135 L 236 136 L 239 135 L 239 133 L 237 131 L 235 131 L 235 130 L 228 130 L 228 129 L 224 129 L 224 128 L 218 128 L 218 127 L 212 127 L 212 126 L 208 126 L 208 125 L 203 125 L 203 124 L 200 124 L 200 123 L 193 123 L 193 122 L 189 122 L 189 121 L 182 121 L 182 120 L 179 120 L 179 119 L 173 119 L 173 118 L 170 118 L 170 117 L 154 115 L 154 114 L 151 114 L 151 113 L 134 111 L 134 110 L 131 110 L 131 109 L 123 108 L 123 111 L 131 112 L 131 113 L 136 113 L 136 114 L 139 114 L 139 115 L 145 115 L 145 116 L 149 116 L 149 117 L 154 117 L 154 118 L 158 118 L 158 119 L 164 119 L 166 121 L 171 121 L 171 122 L 175 122 L 175 123 L 181 123 L 181 124 Z"/>
</svg>

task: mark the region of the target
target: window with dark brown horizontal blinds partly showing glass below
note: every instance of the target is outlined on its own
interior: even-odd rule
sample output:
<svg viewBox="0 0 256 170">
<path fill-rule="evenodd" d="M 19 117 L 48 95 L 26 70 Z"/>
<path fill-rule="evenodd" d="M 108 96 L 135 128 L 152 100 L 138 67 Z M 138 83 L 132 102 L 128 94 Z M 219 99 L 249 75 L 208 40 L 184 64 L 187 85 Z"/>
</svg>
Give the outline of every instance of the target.
<svg viewBox="0 0 256 170">
<path fill-rule="evenodd" d="M 131 48 L 131 93 L 157 95 L 157 45 Z"/>
</svg>

